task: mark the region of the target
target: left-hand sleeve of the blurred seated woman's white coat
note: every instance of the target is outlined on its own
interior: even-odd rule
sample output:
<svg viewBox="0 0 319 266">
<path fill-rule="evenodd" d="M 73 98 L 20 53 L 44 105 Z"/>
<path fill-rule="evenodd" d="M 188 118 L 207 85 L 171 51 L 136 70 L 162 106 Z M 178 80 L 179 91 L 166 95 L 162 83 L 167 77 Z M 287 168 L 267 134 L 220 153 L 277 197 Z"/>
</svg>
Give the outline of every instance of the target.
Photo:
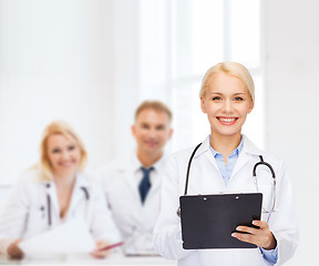
<svg viewBox="0 0 319 266">
<path fill-rule="evenodd" d="M 29 206 L 28 184 L 24 178 L 19 178 L 0 214 L 0 254 L 7 256 L 9 245 L 18 238 L 21 239 Z"/>
</svg>

